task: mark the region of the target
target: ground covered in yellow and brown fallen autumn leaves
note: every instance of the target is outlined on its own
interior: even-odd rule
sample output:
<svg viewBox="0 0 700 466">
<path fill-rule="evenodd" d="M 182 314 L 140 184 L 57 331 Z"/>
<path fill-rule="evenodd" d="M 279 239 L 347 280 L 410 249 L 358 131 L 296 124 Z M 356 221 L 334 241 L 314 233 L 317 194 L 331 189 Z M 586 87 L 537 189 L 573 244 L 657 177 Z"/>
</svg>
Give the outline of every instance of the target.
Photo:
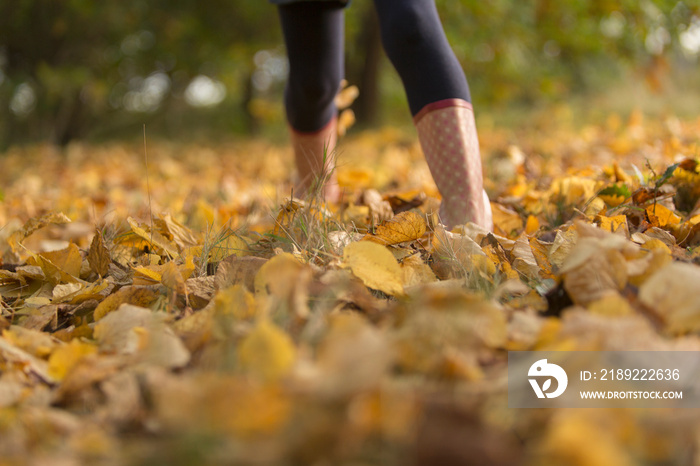
<svg viewBox="0 0 700 466">
<path fill-rule="evenodd" d="M 0 159 L 0 464 L 697 464 L 693 411 L 507 408 L 508 350 L 700 350 L 700 120 L 484 125 L 495 232 L 412 135 L 342 202 L 264 142 Z"/>
</svg>

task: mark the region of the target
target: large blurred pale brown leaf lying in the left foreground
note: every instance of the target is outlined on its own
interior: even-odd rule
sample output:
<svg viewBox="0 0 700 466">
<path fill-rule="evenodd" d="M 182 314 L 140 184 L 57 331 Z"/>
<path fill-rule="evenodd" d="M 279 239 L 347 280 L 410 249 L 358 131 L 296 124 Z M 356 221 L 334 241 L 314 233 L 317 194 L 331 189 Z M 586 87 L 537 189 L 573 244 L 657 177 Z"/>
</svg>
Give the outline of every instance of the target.
<svg viewBox="0 0 700 466">
<path fill-rule="evenodd" d="M 122 304 L 95 325 L 95 339 L 103 352 L 136 355 L 163 367 L 183 367 L 190 353 L 164 319 L 150 309 Z"/>
</svg>

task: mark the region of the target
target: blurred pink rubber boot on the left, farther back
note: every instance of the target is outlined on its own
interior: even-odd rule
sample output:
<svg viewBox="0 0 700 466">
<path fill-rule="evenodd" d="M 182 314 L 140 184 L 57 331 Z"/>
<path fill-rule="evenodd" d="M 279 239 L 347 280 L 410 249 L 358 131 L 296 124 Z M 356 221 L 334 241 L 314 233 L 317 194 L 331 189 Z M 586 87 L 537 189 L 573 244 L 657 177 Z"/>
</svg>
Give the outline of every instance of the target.
<svg viewBox="0 0 700 466">
<path fill-rule="evenodd" d="M 312 133 L 290 128 L 290 140 L 298 173 L 298 181 L 294 186 L 294 197 L 303 199 L 310 194 L 318 193 L 328 202 L 338 200 L 340 190 L 335 176 L 337 139 L 338 122 L 336 118 Z"/>
</svg>

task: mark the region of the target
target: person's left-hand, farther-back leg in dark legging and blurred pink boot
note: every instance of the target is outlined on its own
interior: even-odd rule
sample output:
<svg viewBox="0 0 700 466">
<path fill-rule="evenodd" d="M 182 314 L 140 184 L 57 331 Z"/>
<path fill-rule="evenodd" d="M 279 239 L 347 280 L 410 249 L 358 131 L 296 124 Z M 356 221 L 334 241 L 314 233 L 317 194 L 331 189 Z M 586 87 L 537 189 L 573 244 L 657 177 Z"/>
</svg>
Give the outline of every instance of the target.
<svg viewBox="0 0 700 466">
<path fill-rule="evenodd" d="M 279 7 L 289 80 L 285 108 L 303 197 L 325 181 L 322 193 L 337 197 L 331 154 L 336 144 L 333 102 L 343 78 L 344 3 L 298 2 Z M 325 163 L 325 166 L 324 166 Z M 329 179 L 319 177 L 329 175 Z"/>
</svg>

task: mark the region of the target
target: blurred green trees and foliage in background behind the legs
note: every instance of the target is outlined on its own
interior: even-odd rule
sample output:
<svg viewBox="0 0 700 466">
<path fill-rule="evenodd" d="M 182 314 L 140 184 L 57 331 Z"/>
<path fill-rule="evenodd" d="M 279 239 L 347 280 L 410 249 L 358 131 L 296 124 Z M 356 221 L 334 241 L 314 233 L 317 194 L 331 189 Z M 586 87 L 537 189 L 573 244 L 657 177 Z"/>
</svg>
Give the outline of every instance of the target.
<svg viewBox="0 0 700 466">
<path fill-rule="evenodd" d="M 683 34 L 700 37 L 697 0 L 437 3 L 479 102 L 561 99 L 631 67 L 653 85 L 666 63 L 698 58 L 679 45 Z M 364 63 L 367 8 L 356 0 L 347 11 L 349 74 Z M 249 133 L 282 122 L 284 73 L 267 1 L 5 1 L 0 146 L 138 134 L 143 123 L 166 136 L 202 125 Z M 400 98 L 393 92 L 380 102 Z"/>
</svg>

